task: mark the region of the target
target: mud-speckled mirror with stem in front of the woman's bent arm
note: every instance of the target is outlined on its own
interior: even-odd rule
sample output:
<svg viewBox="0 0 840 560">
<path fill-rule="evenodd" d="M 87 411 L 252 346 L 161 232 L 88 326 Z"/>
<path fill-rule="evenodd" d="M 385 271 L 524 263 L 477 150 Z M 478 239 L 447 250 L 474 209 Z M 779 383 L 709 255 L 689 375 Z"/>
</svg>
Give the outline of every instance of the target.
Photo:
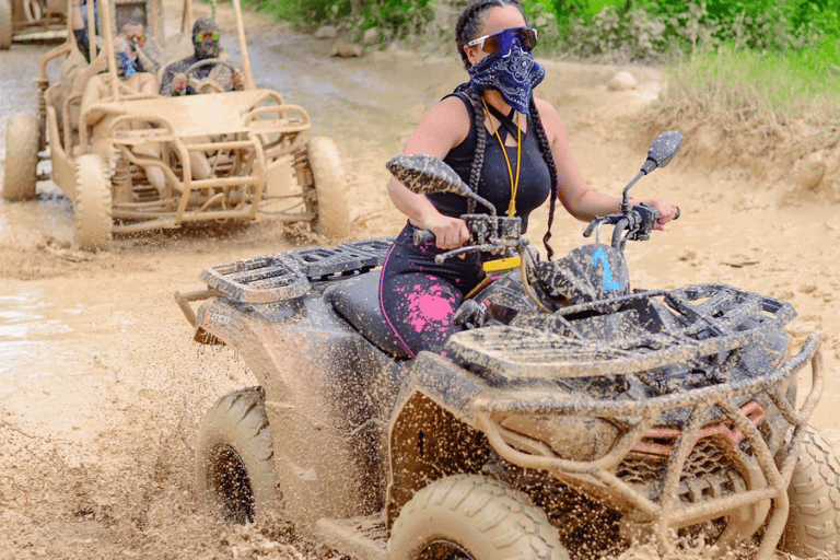
<svg viewBox="0 0 840 560">
<path fill-rule="evenodd" d="M 460 180 L 455 170 L 446 165 L 440 158 L 428 154 L 400 154 L 385 164 L 397 180 L 418 195 L 450 192 L 481 202 L 490 213 L 495 215 L 495 207 L 485 198 L 472 192 Z"/>
</svg>

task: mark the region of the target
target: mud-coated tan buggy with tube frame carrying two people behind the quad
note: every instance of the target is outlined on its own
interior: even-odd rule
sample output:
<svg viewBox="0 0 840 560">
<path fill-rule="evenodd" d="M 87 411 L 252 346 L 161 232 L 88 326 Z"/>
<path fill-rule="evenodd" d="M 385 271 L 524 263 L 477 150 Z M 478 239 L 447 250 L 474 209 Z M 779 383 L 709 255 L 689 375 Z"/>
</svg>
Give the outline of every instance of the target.
<svg viewBox="0 0 840 560">
<path fill-rule="evenodd" d="M 88 5 L 89 21 L 94 21 Z M 306 138 L 311 121 L 302 107 L 255 86 L 238 0 L 234 8 L 242 66 L 221 58 L 194 65 L 189 84 L 205 93 L 176 97 L 138 93 L 118 78 L 114 30 L 128 21 L 112 15 L 119 5 L 119 0 L 97 2 L 103 30 L 91 39 L 90 65 L 70 24 L 67 42 L 42 57 L 39 115 L 14 116 L 8 122 L 3 198 L 31 199 L 36 182 L 51 178 L 73 203 L 74 242 L 85 249 L 106 248 L 113 234 L 253 221 L 258 214 L 307 223 L 329 240 L 346 235 L 338 151 L 329 138 Z M 162 42 L 168 59 L 154 77 L 158 81 L 168 63 L 192 51 L 190 0 L 184 9 L 184 30 Z M 57 80 L 48 72 L 54 62 L 59 66 Z M 213 72 L 198 80 L 197 67 L 205 65 L 213 71 L 238 68 L 244 89 L 226 91 L 210 78 Z M 100 98 L 83 95 L 93 80 L 107 91 Z M 197 159 L 207 168 L 201 174 Z M 38 174 L 42 160 L 51 163 L 49 177 Z"/>
</svg>

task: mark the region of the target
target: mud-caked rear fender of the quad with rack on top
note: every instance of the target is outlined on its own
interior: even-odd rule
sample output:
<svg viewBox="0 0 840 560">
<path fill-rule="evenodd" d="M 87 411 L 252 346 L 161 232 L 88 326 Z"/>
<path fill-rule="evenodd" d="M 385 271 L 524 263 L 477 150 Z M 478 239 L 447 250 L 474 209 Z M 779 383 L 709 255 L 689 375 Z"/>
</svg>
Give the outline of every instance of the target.
<svg viewBox="0 0 840 560">
<path fill-rule="evenodd" d="M 380 266 L 388 242 L 219 265 L 192 296 L 215 295 L 198 310 L 196 340 L 235 348 L 265 388 L 268 420 L 283 427 L 272 434 L 285 508 L 304 525 L 382 508 L 387 418 L 407 371 L 324 293 Z"/>
</svg>

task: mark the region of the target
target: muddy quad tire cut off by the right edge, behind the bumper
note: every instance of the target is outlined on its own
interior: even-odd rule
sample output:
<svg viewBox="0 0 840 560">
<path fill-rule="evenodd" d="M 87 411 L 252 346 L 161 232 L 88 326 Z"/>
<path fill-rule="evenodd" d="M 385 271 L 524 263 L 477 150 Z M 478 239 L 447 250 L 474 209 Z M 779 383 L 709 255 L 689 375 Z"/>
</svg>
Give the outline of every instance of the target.
<svg viewBox="0 0 840 560">
<path fill-rule="evenodd" d="M 840 555 L 840 460 L 813 428 L 796 458 L 788 498 L 791 511 L 779 548 L 800 558 Z"/>
</svg>

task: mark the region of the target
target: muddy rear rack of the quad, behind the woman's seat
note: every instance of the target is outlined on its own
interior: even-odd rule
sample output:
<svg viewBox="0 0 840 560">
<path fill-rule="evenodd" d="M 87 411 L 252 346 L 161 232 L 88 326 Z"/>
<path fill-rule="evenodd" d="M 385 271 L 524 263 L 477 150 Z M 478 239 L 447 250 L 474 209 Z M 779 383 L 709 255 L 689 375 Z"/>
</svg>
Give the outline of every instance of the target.
<svg viewBox="0 0 840 560">
<path fill-rule="evenodd" d="M 394 237 L 377 237 L 233 260 L 203 269 L 200 278 L 211 290 L 242 303 L 292 300 L 306 294 L 313 282 L 382 266 L 393 242 Z"/>
</svg>

